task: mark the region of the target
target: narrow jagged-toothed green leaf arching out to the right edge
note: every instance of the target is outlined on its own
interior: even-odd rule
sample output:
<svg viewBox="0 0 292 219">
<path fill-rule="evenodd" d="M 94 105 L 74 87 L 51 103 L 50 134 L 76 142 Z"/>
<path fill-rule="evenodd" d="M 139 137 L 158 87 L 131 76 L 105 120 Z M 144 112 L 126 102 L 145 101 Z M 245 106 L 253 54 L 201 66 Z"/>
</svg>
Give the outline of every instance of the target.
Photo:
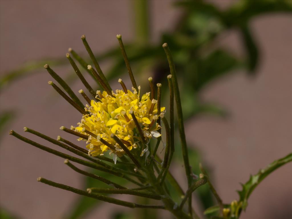
<svg viewBox="0 0 292 219">
<path fill-rule="evenodd" d="M 261 169 L 256 175 L 251 175 L 249 180 L 242 184 L 242 190 L 237 191 L 239 194 L 239 202 L 242 202 L 242 208 L 245 210 L 247 207 L 247 199 L 251 195 L 251 192 L 257 187 L 257 185 L 266 178 L 270 173 L 275 171 L 280 166 L 292 161 L 292 153 L 288 154 L 279 160 L 275 160 L 269 164 L 265 169 Z"/>
</svg>

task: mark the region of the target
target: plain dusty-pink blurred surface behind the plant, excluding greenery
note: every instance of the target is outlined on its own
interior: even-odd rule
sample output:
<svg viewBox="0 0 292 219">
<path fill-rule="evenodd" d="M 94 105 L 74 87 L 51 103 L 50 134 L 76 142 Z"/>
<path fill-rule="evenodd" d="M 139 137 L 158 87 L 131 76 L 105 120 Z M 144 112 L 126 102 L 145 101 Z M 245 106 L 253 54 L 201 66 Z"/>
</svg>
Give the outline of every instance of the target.
<svg viewBox="0 0 292 219">
<path fill-rule="evenodd" d="M 173 27 L 179 14 L 171 3 L 151 1 L 155 42 L 161 32 Z M 225 7 L 232 1 L 215 4 Z M 25 61 L 65 57 L 69 47 L 84 52 L 82 34 L 97 52 L 117 45 L 116 34 L 131 41 L 130 6 L 129 1 L 1 1 L 1 74 Z M 258 76 L 251 79 L 242 71 L 210 84 L 202 93 L 204 100 L 226 106 L 232 116 L 227 120 L 200 117 L 186 123 L 187 140 L 198 145 L 213 168 L 214 184 L 224 202 L 237 199 L 239 182 L 291 152 L 291 25 L 289 15 L 254 19 L 252 28 L 261 52 Z M 243 53 L 235 31 L 220 37 L 219 45 Z M 58 69 L 61 76 L 64 72 L 68 69 Z M 45 145 L 49 144 L 23 133 L 22 127 L 56 137 L 63 134 L 61 125 L 74 125 L 80 119 L 76 110 L 56 98 L 48 80 L 49 74 L 41 70 L 1 91 L 1 110 L 18 112 L 8 130 Z M 72 87 L 78 91 L 81 83 Z M 77 195 L 38 183 L 36 178 L 83 188 L 81 175 L 63 165 L 62 158 L 9 136 L 8 130 L 1 135 L 1 206 L 23 218 L 60 218 Z M 291 170 L 288 164 L 267 177 L 251 195 L 242 218 L 291 218 Z M 185 187 L 180 166 L 173 171 Z M 107 218 L 112 207 L 101 204 L 88 218 Z"/>
</svg>

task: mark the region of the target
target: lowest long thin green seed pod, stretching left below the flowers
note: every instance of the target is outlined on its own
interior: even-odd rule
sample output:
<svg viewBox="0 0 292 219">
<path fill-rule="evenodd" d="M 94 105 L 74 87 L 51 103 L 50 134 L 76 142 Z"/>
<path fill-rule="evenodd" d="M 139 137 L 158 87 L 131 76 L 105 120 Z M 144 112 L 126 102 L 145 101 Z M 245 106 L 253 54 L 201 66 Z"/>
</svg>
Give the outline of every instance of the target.
<svg viewBox="0 0 292 219">
<path fill-rule="evenodd" d="M 90 194 L 90 193 L 85 192 L 83 190 L 79 190 L 79 189 L 76 189 L 76 188 L 73 188 L 71 186 L 67 186 L 67 185 L 64 185 L 64 184 L 55 183 L 55 182 L 53 182 L 51 180 L 47 180 L 47 179 L 41 178 L 41 177 L 37 178 L 37 181 L 39 181 L 41 183 L 45 183 L 47 185 L 51 185 L 53 187 L 57 187 L 57 188 L 63 189 L 63 190 L 74 192 L 74 193 L 79 194 L 79 195 L 84 195 L 84 196 L 87 196 L 87 197 L 90 197 L 90 198 L 98 199 L 100 201 L 105 201 L 105 202 L 109 202 L 109 203 L 112 203 L 112 204 L 117 204 L 117 205 L 129 207 L 129 208 L 161 208 L 161 209 L 164 209 L 164 206 L 140 205 L 140 204 L 135 204 L 135 203 L 128 202 L 128 201 L 121 201 L 119 199 L 114 199 L 114 198 L 107 197 L 107 196 L 104 196 L 104 195 Z"/>
</svg>

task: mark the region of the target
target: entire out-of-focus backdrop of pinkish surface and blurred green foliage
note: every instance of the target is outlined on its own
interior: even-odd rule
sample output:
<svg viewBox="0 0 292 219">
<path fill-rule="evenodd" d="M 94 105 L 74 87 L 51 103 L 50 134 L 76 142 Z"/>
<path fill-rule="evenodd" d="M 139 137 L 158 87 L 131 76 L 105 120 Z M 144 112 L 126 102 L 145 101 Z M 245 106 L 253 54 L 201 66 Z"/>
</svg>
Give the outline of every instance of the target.
<svg viewBox="0 0 292 219">
<path fill-rule="evenodd" d="M 116 39 L 121 34 L 136 81 L 143 91 L 150 76 L 162 83 L 166 106 L 169 69 L 161 45 L 169 44 L 179 74 L 192 169 L 199 173 L 200 161 L 208 167 L 224 203 L 238 199 L 239 183 L 250 174 L 291 152 L 291 1 L 0 4 L 1 218 L 171 218 L 165 211 L 141 212 L 38 183 L 42 176 L 80 189 L 96 186 L 63 165 L 62 158 L 8 135 L 14 129 L 62 151 L 22 128 L 56 138 L 65 136 L 60 126 L 80 121 L 79 113 L 48 86 L 51 77 L 42 66 L 49 64 L 77 93 L 83 85 L 65 54 L 72 47 L 90 62 L 82 34 L 115 89 L 119 78 L 130 86 Z M 82 73 L 97 88 L 86 70 Z M 179 149 L 177 143 L 171 171 L 185 189 Z M 268 176 L 241 218 L 291 218 L 291 180 L 291 164 Z M 214 204 L 204 187 L 193 198 L 198 211 Z"/>
</svg>

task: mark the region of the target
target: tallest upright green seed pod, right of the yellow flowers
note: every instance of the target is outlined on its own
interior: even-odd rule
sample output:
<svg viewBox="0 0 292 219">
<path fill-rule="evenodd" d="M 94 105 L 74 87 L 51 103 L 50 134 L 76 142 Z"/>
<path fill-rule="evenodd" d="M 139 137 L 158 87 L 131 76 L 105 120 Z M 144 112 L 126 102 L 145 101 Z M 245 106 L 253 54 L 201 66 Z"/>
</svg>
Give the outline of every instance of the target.
<svg viewBox="0 0 292 219">
<path fill-rule="evenodd" d="M 174 96 L 175 96 L 175 102 L 176 102 L 176 109 L 178 113 L 178 128 L 179 128 L 179 133 L 180 133 L 180 141 L 182 145 L 182 152 L 183 152 L 183 160 L 185 164 L 185 173 L 187 175 L 187 183 L 188 187 L 191 186 L 192 184 L 192 176 L 191 176 L 191 168 L 190 168 L 190 163 L 189 163 L 189 157 L 188 157 L 188 152 L 187 152 L 187 141 L 185 138 L 185 128 L 184 128 L 184 121 L 183 121 L 183 109 L 180 101 L 180 91 L 178 88 L 178 79 L 176 77 L 176 71 L 175 71 L 175 65 L 173 62 L 173 58 L 170 52 L 170 49 L 167 45 L 167 43 L 163 44 L 164 51 L 167 56 L 170 72 L 172 75 L 172 82 L 173 82 L 173 91 L 174 91 Z M 189 198 L 189 213 L 192 215 L 192 199 Z"/>
</svg>

